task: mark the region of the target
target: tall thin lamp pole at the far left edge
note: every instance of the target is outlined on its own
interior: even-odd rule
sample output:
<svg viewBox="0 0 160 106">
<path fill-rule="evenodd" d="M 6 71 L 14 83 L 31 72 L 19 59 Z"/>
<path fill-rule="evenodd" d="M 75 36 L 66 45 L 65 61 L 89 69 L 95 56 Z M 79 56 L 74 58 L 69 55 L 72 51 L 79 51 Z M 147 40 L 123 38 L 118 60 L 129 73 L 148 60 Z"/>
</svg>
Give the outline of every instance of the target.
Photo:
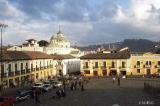
<svg viewBox="0 0 160 106">
<path fill-rule="evenodd" d="M 0 61 L 1 62 L 1 64 L 0 64 L 1 65 L 1 67 L 0 67 L 0 69 L 1 69 L 1 76 L 0 76 L 1 79 L 0 80 L 1 81 L 0 81 L 0 86 L 1 87 L 3 87 L 3 76 L 4 76 L 4 72 L 2 72 L 2 65 L 3 65 L 2 64 L 2 62 L 3 62 L 3 60 L 2 60 L 3 59 L 3 38 L 2 38 L 2 34 L 3 34 L 3 29 L 6 28 L 6 27 L 8 27 L 8 25 L 0 23 L 0 29 L 1 29 L 1 55 L 0 55 L 1 56 L 0 57 L 0 59 L 1 59 L 1 61 Z"/>
</svg>

